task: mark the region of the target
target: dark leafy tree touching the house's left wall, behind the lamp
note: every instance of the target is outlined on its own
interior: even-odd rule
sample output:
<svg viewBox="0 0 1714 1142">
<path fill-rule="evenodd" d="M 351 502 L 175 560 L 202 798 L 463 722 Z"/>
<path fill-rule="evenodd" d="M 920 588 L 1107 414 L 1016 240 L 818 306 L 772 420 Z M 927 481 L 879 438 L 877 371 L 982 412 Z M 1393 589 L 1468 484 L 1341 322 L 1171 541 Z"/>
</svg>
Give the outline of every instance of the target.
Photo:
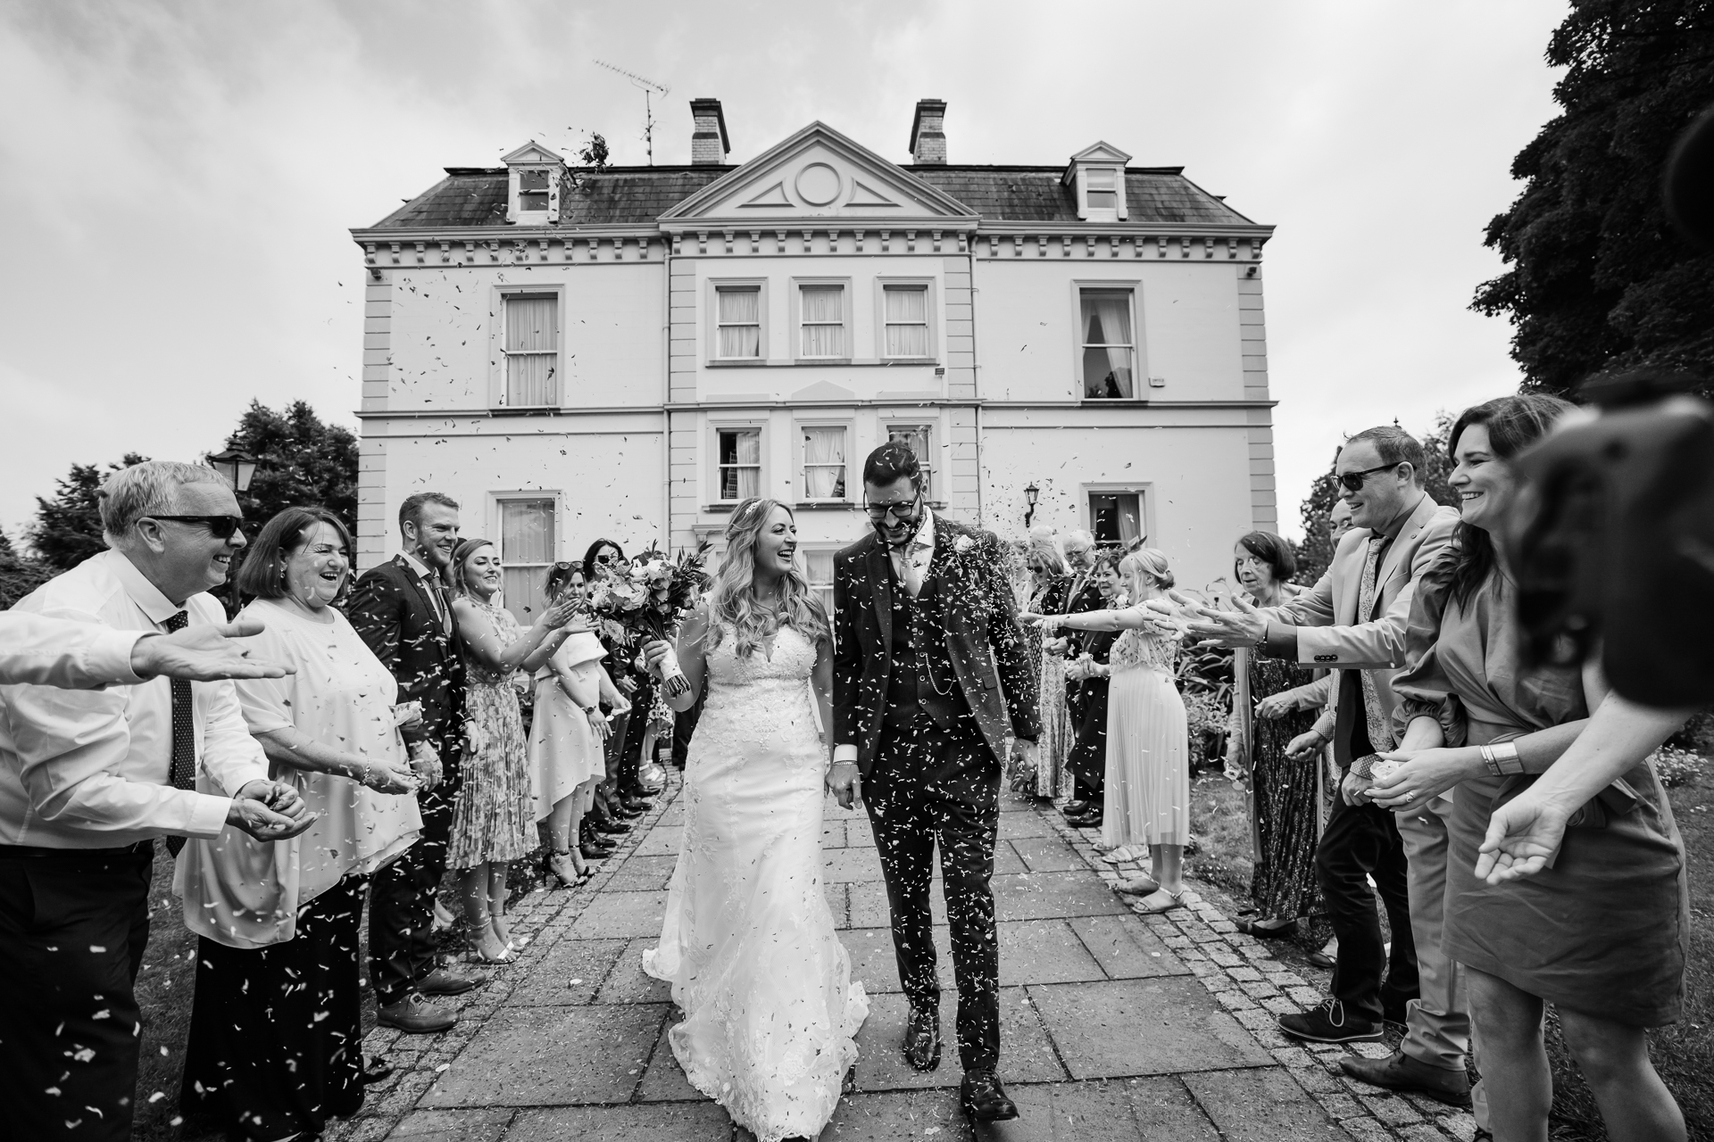
<svg viewBox="0 0 1714 1142">
<path fill-rule="evenodd" d="M 238 493 L 245 519 L 266 520 L 281 509 L 324 507 L 357 534 L 357 437 L 327 425 L 303 401 L 281 411 L 250 401 L 228 449 L 255 457 L 250 490 Z"/>
</svg>

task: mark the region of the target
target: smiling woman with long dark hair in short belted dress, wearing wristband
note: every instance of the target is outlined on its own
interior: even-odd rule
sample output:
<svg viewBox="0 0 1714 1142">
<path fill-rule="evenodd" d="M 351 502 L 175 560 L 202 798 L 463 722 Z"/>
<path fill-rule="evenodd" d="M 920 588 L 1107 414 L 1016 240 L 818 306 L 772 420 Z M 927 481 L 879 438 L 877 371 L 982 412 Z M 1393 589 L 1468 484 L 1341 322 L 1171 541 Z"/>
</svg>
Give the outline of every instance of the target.
<svg viewBox="0 0 1714 1142">
<path fill-rule="evenodd" d="M 1405 645 L 1414 666 L 1393 683 L 1404 738 L 1381 755 L 1368 793 L 1412 812 L 1455 789 L 1445 950 L 1467 972 L 1495 1137 L 1548 1137 L 1553 1080 L 1541 1020 L 1543 1003 L 1553 1003 L 1608 1137 L 1675 1142 L 1685 1120 L 1649 1062 L 1645 1029 L 1683 1010 L 1688 897 L 1683 842 L 1647 755 L 1683 717 L 1630 719 L 1618 752 L 1635 762 L 1579 810 L 1551 868 L 1476 877 L 1495 808 L 1561 755 L 1589 753 L 1579 738 L 1591 711 L 1606 726 L 1635 709 L 1608 693 L 1596 668 L 1525 659 L 1517 587 L 1489 538 L 1517 495 L 1512 457 L 1570 407 L 1546 396 L 1501 397 L 1453 425 L 1452 488 L 1464 522 L 1417 584 Z"/>
</svg>

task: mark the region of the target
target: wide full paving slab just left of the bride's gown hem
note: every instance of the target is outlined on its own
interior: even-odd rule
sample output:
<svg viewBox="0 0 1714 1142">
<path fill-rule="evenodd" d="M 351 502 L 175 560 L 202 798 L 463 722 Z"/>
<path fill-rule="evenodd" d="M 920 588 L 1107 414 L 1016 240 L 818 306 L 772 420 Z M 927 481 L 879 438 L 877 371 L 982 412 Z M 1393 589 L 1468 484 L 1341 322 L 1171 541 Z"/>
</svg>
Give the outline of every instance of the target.
<svg viewBox="0 0 1714 1142">
<path fill-rule="evenodd" d="M 667 1012 L 662 1003 L 500 1008 L 422 1106 L 624 1103 Z"/>
</svg>

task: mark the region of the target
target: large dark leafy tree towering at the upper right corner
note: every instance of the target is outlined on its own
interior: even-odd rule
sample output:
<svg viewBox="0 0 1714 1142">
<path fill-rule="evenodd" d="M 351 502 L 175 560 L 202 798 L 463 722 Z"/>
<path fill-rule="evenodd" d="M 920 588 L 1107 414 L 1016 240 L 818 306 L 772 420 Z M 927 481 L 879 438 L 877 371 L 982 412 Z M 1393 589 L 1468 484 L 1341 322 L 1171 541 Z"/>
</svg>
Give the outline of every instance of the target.
<svg viewBox="0 0 1714 1142">
<path fill-rule="evenodd" d="M 1676 135 L 1714 103 L 1714 2 L 1572 0 L 1548 41 L 1561 115 L 1512 163 L 1488 224 L 1508 269 L 1471 308 L 1505 315 L 1525 389 L 1640 365 L 1714 375 L 1714 255 L 1661 205 Z"/>
</svg>

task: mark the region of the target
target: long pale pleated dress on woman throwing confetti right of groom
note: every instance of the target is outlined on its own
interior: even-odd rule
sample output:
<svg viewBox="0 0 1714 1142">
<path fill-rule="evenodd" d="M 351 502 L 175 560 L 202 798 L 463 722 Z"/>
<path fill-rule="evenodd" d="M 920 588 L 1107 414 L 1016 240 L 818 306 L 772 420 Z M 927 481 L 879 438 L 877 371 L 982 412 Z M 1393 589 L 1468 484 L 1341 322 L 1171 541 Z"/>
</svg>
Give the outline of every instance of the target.
<svg viewBox="0 0 1714 1142">
<path fill-rule="evenodd" d="M 1190 731 L 1172 678 L 1176 654 L 1176 642 L 1131 628 L 1107 656 L 1106 844 L 1190 841 Z"/>
</svg>

